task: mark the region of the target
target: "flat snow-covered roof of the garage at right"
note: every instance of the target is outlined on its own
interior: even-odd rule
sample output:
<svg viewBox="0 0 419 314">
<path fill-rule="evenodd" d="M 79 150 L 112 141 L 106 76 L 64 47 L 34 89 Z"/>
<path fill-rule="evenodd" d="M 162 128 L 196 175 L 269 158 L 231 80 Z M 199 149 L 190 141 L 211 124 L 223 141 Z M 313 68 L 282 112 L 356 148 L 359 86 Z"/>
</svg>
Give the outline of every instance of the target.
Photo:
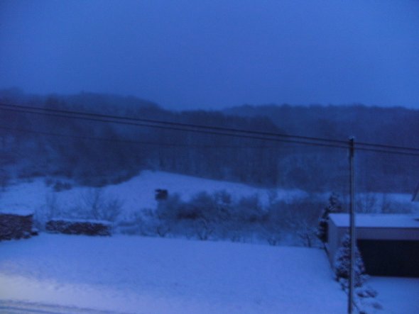
<svg viewBox="0 0 419 314">
<path fill-rule="evenodd" d="M 349 214 L 332 213 L 330 220 L 338 227 L 349 227 Z M 419 215 L 407 214 L 362 214 L 355 215 L 355 225 L 359 228 L 418 228 Z"/>
</svg>

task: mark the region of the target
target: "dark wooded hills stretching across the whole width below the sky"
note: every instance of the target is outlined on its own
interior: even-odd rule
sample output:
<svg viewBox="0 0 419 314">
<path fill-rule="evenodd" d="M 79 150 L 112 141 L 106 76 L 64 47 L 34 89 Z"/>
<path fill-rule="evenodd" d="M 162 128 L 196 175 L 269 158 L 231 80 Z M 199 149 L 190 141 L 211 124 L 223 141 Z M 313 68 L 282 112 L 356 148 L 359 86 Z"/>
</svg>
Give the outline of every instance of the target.
<svg viewBox="0 0 419 314">
<path fill-rule="evenodd" d="M 30 95 L 0 91 L 0 102 L 38 108 L 419 147 L 419 111 L 354 106 L 240 106 L 173 112 L 132 96 Z M 347 192 L 348 152 L 176 128 L 34 115 L 0 108 L 0 185 L 18 176 L 66 176 L 88 186 L 124 181 L 141 169 L 255 186 Z M 382 150 L 385 150 L 383 148 Z M 357 189 L 411 193 L 418 156 L 357 151 Z"/>
</svg>

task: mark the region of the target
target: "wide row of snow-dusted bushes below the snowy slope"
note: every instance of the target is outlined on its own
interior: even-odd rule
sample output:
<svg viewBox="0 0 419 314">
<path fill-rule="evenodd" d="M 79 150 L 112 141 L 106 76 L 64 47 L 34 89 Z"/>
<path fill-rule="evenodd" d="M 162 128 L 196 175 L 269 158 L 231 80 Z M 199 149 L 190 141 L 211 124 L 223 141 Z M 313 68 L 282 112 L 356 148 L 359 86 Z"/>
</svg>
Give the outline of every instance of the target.
<svg viewBox="0 0 419 314">
<path fill-rule="evenodd" d="M 199 240 L 253 242 L 278 245 L 318 246 L 315 237 L 320 201 L 314 196 L 286 203 L 271 201 L 262 206 L 259 196 L 234 200 L 225 191 L 202 192 L 185 201 L 177 194 L 159 200 L 155 211 L 143 213 L 143 234 Z M 124 225 L 132 225 L 125 223 Z M 129 227 L 130 230 L 136 230 Z M 136 231 L 139 232 L 139 231 Z"/>
</svg>

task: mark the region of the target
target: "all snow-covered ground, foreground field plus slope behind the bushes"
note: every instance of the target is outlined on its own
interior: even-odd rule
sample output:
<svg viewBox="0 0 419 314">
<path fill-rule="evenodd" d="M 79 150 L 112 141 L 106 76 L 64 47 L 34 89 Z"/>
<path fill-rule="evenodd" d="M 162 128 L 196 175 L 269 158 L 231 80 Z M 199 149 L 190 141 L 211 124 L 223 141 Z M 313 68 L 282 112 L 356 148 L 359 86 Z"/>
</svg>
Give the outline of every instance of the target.
<svg viewBox="0 0 419 314">
<path fill-rule="evenodd" d="M 292 202 L 308 195 L 151 171 L 101 191 L 118 198 L 129 214 L 155 208 L 156 189 L 185 200 L 201 191 L 227 191 L 235 200 L 256 194 L 262 204 L 272 197 Z M 42 212 L 53 200 L 68 213 L 91 193 L 80 186 L 55 192 L 43 178 L 15 182 L 0 192 L 0 212 Z M 327 201 L 328 196 L 318 197 Z M 362 197 L 371 203 L 371 194 Z M 412 206 L 409 195 L 386 199 Z M 366 300 L 367 313 L 419 313 L 419 279 L 374 277 L 369 284 L 379 296 Z M 320 249 L 40 233 L 0 242 L 0 313 L 25 313 L 25 308 L 34 313 L 338 314 L 346 313 L 347 296 Z"/>
</svg>

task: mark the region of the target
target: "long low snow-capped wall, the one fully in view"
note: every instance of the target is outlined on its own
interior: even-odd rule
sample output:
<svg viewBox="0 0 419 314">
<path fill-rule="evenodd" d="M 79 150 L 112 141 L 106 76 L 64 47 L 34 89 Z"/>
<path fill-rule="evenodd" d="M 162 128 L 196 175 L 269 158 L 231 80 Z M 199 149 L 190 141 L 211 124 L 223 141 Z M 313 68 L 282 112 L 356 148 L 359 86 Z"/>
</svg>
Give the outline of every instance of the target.
<svg viewBox="0 0 419 314">
<path fill-rule="evenodd" d="M 111 223 L 102 220 L 53 219 L 46 223 L 45 230 L 67 235 L 111 235 Z"/>
</svg>

